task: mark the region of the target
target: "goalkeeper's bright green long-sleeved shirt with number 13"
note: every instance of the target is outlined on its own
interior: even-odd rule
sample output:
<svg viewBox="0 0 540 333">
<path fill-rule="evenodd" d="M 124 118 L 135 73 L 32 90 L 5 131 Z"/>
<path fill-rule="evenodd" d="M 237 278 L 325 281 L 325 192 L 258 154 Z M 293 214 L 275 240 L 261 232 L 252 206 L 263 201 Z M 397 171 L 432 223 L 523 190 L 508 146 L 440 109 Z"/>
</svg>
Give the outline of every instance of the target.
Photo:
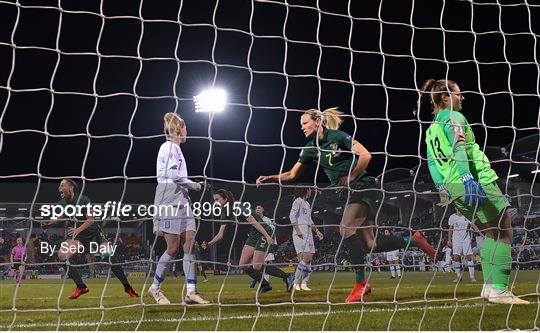
<svg viewBox="0 0 540 333">
<path fill-rule="evenodd" d="M 480 184 L 498 179 L 460 112 L 439 111 L 426 132 L 426 145 L 429 171 L 437 186 L 461 182 L 467 173 Z"/>
</svg>

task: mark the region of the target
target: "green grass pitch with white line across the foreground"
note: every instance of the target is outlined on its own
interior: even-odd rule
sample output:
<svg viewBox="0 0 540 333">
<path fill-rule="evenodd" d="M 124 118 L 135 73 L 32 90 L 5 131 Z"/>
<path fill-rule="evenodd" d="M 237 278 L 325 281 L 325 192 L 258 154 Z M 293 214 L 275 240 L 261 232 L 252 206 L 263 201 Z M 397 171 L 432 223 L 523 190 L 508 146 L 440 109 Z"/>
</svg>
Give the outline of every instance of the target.
<svg viewBox="0 0 540 333">
<path fill-rule="evenodd" d="M 17 291 L 16 312 L 12 310 L 13 281 L 0 281 L 0 330 L 12 323 L 13 330 L 49 331 L 57 325 L 60 330 L 135 330 L 138 325 L 139 330 L 538 329 L 539 271 L 519 272 L 514 292 L 533 295 L 526 297 L 530 305 L 514 307 L 485 303 L 478 297 L 480 282 L 470 284 L 466 276 L 456 288 L 453 278 L 451 273 L 407 272 L 398 286 L 389 273 L 374 273 L 370 277 L 373 293 L 365 304 L 339 304 L 350 291 L 352 273 L 338 273 L 329 292 L 333 273 L 314 273 L 313 291 L 295 293 L 294 305 L 284 284 L 273 278 L 274 290 L 259 296 L 260 306 L 255 305 L 255 290 L 249 289 L 245 275 L 228 277 L 221 295 L 223 276 L 199 281 L 201 294 L 214 302 L 210 306 L 179 304 L 182 279 L 168 278 L 162 287 L 171 302 L 177 303 L 169 306 L 156 306 L 146 295 L 143 306 L 140 298 L 129 298 L 116 279 L 110 280 L 103 298 L 105 280 L 87 280 L 90 293 L 77 300 L 67 299 L 74 288 L 69 280 L 61 295 L 61 281 L 25 280 Z M 131 282 L 138 292 L 142 290 L 144 278 Z"/>
</svg>

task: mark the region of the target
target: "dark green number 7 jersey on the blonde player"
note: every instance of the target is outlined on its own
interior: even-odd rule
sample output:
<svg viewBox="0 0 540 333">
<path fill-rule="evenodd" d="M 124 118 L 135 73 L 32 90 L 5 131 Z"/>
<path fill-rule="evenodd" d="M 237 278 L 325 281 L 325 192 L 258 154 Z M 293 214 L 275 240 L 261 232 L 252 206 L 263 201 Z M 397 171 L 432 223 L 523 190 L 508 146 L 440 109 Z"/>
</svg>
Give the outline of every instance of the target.
<svg viewBox="0 0 540 333">
<path fill-rule="evenodd" d="M 347 133 L 325 129 L 321 140 L 317 142 L 317 139 L 314 138 L 306 144 L 300 153 L 298 162 L 302 164 L 319 163 L 332 185 L 335 185 L 341 177 L 349 175 L 354 169 L 356 155 L 352 153 L 352 144 L 353 138 Z M 365 172 L 358 178 L 364 174 Z"/>
</svg>

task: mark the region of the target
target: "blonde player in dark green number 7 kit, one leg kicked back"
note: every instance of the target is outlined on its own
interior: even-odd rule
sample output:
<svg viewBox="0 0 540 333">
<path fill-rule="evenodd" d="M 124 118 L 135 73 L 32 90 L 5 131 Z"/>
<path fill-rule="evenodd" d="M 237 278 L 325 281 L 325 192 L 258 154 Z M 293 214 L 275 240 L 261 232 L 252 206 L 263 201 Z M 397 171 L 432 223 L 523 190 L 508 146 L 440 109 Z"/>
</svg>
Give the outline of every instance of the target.
<svg viewBox="0 0 540 333">
<path fill-rule="evenodd" d="M 346 302 L 362 301 L 371 291 L 365 280 L 364 266 L 366 252 L 386 252 L 410 245 L 425 251 L 435 260 L 435 250 L 416 232 L 412 238 L 373 233 L 373 215 L 377 211 L 376 198 L 380 186 L 375 178 L 368 176 L 366 168 L 371 160 L 369 151 L 350 135 L 338 130 L 341 125 L 341 112 L 336 108 L 308 110 L 300 124 L 306 138 L 311 139 L 290 171 L 279 175 L 260 176 L 257 184 L 265 182 L 290 182 L 296 180 L 309 163 L 317 163 L 324 170 L 332 186 L 341 188 L 341 197 L 346 208 L 341 220 L 340 232 L 343 244 L 349 252 L 352 268 L 355 270 L 354 288 Z M 347 189 L 347 190 L 345 190 Z"/>
</svg>

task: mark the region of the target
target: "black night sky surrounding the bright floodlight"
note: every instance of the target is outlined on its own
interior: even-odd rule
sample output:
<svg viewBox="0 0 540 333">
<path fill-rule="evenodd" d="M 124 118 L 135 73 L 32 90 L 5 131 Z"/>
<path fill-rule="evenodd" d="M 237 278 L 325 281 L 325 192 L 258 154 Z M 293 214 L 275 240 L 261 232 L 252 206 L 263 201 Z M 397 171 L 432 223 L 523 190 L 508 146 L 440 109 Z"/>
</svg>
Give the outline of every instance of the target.
<svg viewBox="0 0 540 333">
<path fill-rule="evenodd" d="M 297 160 L 302 110 L 334 106 L 372 152 L 369 173 L 413 168 L 431 77 L 458 82 L 477 142 L 506 146 L 539 131 L 540 7 L 499 3 L 2 1 L 0 176 L 153 183 L 176 111 L 190 175 L 254 183 Z M 230 105 L 209 128 L 192 97 L 213 84 Z"/>
</svg>

